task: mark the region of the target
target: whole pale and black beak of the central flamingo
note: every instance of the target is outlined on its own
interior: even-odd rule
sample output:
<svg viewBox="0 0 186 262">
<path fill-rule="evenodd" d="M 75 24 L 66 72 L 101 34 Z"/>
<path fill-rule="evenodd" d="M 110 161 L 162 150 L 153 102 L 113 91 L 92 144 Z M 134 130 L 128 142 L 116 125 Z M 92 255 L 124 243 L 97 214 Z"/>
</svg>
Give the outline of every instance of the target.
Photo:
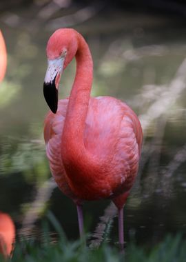
<svg viewBox="0 0 186 262">
<path fill-rule="evenodd" d="M 48 69 L 43 84 L 43 94 L 50 110 L 55 114 L 58 105 L 58 87 L 63 71 L 64 58 L 48 59 Z"/>
</svg>

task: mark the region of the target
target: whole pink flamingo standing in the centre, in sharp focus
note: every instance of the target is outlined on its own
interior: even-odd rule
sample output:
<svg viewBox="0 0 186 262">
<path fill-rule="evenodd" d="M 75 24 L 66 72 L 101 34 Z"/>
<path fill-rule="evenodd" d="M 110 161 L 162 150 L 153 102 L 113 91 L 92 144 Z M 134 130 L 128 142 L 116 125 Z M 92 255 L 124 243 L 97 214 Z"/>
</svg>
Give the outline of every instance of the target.
<svg viewBox="0 0 186 262">
<path fill-rule="evenodd" d="M 123 206 L 138 171 L 143 133 L 132 109 L 114 97 L 90 97 L 93 63 L 85 39 L 74 29 L 48 40 L 43 94 L 50 111 L 44 139 L 50 170 L 76 204 L 83 235 L 83 201 L 111 199 L 118 209 L 118 240 L 124 245 Z M 70 97 L 58 101 L 61 73 L 76 58 Z"/>
</svg>

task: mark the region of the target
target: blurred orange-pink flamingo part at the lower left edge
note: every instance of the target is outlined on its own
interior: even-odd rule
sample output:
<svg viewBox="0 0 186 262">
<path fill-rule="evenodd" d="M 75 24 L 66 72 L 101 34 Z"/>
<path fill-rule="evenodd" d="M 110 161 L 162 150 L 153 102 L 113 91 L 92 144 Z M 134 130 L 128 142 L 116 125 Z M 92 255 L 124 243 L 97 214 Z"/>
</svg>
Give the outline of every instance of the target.
<svg viewBox="0 0 186 262">
<path fill-rule="evenodd" d="M 10 216 L 0 212 L 0 253 L 11 256 L 15 239 L 14 223 Z"/>
</svg>

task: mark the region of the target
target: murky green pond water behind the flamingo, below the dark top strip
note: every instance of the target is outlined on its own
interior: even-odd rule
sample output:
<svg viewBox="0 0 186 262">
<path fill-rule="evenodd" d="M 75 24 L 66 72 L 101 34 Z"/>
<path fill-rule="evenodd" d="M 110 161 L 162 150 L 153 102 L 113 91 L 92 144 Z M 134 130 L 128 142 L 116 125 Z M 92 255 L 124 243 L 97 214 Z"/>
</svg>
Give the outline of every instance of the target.
<svg viewBox="0 0 186 262">
<path fill-rule="evenodd" d="M 125 208 L 127 241 L 133 236 L 141 243 L 156 241 L 178 230 L 186 234 L 185 39 L 174 42 L 158 28 L 127 35 L 112 30 L 104 32 L 104 37 L 99 30 L 77 29 L 86 32 L 94 57 L 92 95 L 125 100 L 143 123 L 141 168 Z M 48 107 L 42 85 L 49 33 L 5 25 L 2 30 L 8 72 L 0 89 L 1 210 L 10 212 L 21 230 L 34 227 L 51 209 L 68 236 L 76 238 L 76 210 L 49 180 L 43 143 Z M 61 79 L 60 97 L 68 96 L 73 77 L 74 64 Z M 107 201 L 85 204 L 91 231 L 107 205 Z"/>
</svg>

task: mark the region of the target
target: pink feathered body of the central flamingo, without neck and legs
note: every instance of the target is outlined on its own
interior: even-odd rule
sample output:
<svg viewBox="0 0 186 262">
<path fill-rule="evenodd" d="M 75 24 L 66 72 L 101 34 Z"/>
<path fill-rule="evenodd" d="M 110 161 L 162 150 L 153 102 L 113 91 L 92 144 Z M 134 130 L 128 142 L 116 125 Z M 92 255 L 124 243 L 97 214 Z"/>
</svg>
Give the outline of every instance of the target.
<svg viewBox="0 0 186 262">
<path fill-rule="evenodd" d="M 112 97 L 91 98 L 85 120 L 84 143 L 92 156 L 107 161 L 107 172 L 94 175 L 94 183 L 70 183 L 61 161 L 61 136 L 68 99 L 59 101 L 56 114 L 45 118 L 44 137 L 52 175 L 61 191 L 81 200 L 114 198 L 132 188 L 141 152 L 141 125 L 128 105 Z M 86 163 L 84 163 L 86 165 Z M 105 168 L 105 167 L 103 167 Z M 80 186 L 79 186 L 80 185 Z"/>
</svg>

